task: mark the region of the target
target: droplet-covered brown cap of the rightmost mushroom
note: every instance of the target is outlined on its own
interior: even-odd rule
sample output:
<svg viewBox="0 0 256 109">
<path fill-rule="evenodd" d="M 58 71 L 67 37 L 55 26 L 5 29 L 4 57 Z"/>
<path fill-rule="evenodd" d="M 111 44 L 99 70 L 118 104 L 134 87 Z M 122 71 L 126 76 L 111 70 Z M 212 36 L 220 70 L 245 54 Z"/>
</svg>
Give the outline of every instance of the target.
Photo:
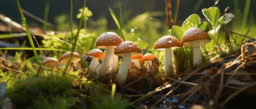
<svg viewBox="0 0 256 109">
<path fill-rule="evenodd" d="M 193 47 L 192 41 L 196 41 L 196 40 L 199 40 L 200 46 L 202 46 L 208 43 L 209 41 L 211 41 L 211 37 L 204 30 L 194 27 L 194 28 L 188 29 L 184 33 L 181 43 L 185 47 Z"/>
</svg>

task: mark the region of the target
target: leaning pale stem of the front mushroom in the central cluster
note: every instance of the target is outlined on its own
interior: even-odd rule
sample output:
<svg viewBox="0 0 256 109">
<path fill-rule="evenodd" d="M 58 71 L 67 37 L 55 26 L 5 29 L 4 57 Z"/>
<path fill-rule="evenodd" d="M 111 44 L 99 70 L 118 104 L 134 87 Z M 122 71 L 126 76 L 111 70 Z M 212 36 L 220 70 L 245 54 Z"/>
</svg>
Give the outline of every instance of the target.
<svg viewBox="0 0 256 109">
<path fill-rule="evenodd" d="M 117 73 L 117 82 L 120 85 L 124 85 L 126 82 L 128 70 L 130 67 L 130 60 L 131 60 L 131 53 L 130 52 L 124 53 L 120 69 Z"/>
</svg>

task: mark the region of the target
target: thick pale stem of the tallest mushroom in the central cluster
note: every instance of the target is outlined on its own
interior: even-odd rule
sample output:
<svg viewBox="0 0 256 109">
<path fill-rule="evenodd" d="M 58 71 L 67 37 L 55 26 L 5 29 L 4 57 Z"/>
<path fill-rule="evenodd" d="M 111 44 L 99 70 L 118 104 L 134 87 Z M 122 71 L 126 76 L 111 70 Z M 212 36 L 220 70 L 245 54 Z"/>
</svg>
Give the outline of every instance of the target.
<svg viewBox="0 0 256 109">
<path fill-rule="evenodd" d="M 105 51 L 105 57 L 99 67 L 99 72 L 97 72 L 99 76 L 108 73 L 114 55 L 114 46 L 106 46 Z"/>
</svg>

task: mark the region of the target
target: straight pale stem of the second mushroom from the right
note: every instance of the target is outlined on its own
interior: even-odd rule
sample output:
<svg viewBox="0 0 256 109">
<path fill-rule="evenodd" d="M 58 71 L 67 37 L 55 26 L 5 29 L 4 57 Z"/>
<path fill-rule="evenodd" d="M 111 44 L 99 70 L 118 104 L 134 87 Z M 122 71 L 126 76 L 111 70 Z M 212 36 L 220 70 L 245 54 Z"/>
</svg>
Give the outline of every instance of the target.
<svg viewBox="0 0 256 109">
<path fill-rule="evenodd" d="M 174 76 L 173 73 L 173 54 L 172 48 L 165 48 L 164 54 L 164 67 L 165 67 L 165 76 L 170 77 Z"/>
</svg>

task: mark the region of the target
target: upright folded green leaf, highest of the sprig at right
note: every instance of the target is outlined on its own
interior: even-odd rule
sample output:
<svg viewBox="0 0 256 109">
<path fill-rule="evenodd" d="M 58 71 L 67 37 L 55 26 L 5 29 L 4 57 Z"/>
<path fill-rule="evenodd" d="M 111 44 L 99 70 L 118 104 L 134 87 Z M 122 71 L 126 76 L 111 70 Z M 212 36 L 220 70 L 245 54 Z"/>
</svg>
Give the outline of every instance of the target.
<svg viewBox="0 0 256 109">
<path fill-rule="evenodd" d="M 209 9 L 202 9 L 204 16 L 213 25 L 215 30 L 218 27 L 218 21 L 220 19 L 220 10 L 218 7 L 210 7 Z"/>
</svg>

